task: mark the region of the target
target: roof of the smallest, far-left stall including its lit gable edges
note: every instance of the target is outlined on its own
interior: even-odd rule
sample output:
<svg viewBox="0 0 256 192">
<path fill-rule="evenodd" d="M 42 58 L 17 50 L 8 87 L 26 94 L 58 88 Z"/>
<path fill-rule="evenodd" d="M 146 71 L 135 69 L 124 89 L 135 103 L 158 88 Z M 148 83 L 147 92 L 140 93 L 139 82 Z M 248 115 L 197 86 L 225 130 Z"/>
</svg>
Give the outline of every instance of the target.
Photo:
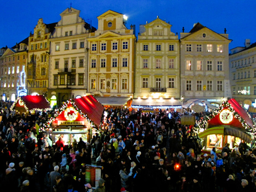
<svg viewBox="0 0 256 192">
<path fill-rule="evenodd" d="M 18 101 L 23 101 L 24 102 L 24 107 L 28 111 L 32 110 L 40 110 L 40 109 L 51 109 L 49 102 L 46 100 L 45 96 L 43 95 L 27 95 L 27 96 L 21 96 L 16 99 L 16 101 L 13 103 L 13 106 L 23 106 L 20 105 L 20 102 Z"/>
</svg>

